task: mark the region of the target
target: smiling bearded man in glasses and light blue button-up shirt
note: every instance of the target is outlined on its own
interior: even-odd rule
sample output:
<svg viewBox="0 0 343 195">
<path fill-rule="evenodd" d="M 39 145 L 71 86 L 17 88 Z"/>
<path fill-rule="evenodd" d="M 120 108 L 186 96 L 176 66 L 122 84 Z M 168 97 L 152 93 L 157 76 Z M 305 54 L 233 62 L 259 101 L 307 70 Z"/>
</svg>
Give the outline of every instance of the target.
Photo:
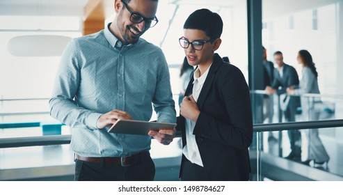
<svg viewBox="0 0 343 195">
<path fill-rule="evenodd" d="M 116 120 L 150 120 L 152 104 L 157 121 L 176 121 L 163 52 L 140 38 L 157 24 L 157 4 L 115 0 L 114 21 L 63 52 L 49 104 L 51 116 L 72 126 L 75 180 L 153 180 L 151 137 L 165 145 L 175 137 L 107 132 Z"/>
</svg>

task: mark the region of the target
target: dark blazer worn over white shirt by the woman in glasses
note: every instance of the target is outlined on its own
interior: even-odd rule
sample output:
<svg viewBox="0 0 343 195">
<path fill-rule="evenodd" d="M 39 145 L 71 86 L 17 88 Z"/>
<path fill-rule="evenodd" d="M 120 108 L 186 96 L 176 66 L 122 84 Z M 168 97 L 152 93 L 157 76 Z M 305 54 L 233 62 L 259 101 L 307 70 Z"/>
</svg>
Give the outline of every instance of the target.
<svg viewBox="0 0 343 195">
<path fill-rule="evenodd" d="M 185 95 L 193 91 L 192 75 Z M 193 134 L 209 180 L 249 180 L 253 120 L 249 88 L 241 70 L 215 54 L 197 104 L 200 115 Z M 182 131 L 184 147 L 185 118 L 181 115 L 177 130 Z M 184 158 L 182 155 L 182 164 Z"/>
</svg>

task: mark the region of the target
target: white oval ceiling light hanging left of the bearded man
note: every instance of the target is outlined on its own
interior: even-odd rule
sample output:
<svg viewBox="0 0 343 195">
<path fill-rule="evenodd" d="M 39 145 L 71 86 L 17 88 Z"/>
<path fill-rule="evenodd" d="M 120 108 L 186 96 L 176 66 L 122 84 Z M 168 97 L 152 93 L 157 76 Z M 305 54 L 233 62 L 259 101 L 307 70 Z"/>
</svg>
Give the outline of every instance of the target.
<svg viewBox="0 0 343 195">
<path fill-rule="evenodd" d="M 16 36 L 8 41 L 7 49 L 13 56 L 61 56 L 71 39 L 54 35 Z"/>
</svg>

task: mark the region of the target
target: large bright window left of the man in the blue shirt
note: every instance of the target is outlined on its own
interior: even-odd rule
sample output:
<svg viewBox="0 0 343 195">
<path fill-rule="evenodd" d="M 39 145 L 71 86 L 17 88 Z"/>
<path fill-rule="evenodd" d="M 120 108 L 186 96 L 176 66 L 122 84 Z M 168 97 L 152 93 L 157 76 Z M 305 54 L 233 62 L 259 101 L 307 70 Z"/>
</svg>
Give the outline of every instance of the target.
<svg viewBox="0 0 343 195">
<path fill-rule="evenodd" d="M 20 21 L 24 22 L 24 25 Z M 17 52 L 39 50 L 33 38 L 56 38 L 63 36 L 75 38 L 81 36 L 78 17 L 43 16 L 1 16 L 0 17 L 0 121 L 1 123 L 46 121 L 49 117 L 47 100 L 13 100 L 49 98 L 54 84 L 56 70 L 61 56 L 30 56 L 11 53 L 11 47 Z M 23 38 L 13 42 L 15 38 Z M 43 37 L 42 37 L 43 38 Z M 56 46 L 46 48 L 56 50 Z M 62 52 L 63 48 L 60 48 Z M 22 51 L 18 51 L 22 50 Z"/>
</svg>

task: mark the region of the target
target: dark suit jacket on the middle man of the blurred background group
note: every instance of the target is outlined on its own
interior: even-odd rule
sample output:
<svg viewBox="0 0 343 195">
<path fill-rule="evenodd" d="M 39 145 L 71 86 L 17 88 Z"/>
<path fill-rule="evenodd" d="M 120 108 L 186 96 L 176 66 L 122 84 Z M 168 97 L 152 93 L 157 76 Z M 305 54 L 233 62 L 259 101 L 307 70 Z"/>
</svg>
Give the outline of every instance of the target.
<svg viewBox="0 0 343 195">
<path fill-rule="evenodd" d="M 283 64 L 282 77 L 280 76 L 278 68 L 274 69 L 274 80 L 273 80 L 273 84 L 271 84 L 271 87 L 276 89 L 276 93 L 278 95 L 282 93 L 286 93 L 287 87 L 298 86 L 298 85 L 299 85 L 298 73 L 296 72 L 295 68 L 292 65 L 288 65 L 285 63 Z M 291 96 L 289 98 L 289 103 L 287 104 L 287 107 L 296 108 L 299 106 L 300 106 L 300 98 Z"/>
</svg>

